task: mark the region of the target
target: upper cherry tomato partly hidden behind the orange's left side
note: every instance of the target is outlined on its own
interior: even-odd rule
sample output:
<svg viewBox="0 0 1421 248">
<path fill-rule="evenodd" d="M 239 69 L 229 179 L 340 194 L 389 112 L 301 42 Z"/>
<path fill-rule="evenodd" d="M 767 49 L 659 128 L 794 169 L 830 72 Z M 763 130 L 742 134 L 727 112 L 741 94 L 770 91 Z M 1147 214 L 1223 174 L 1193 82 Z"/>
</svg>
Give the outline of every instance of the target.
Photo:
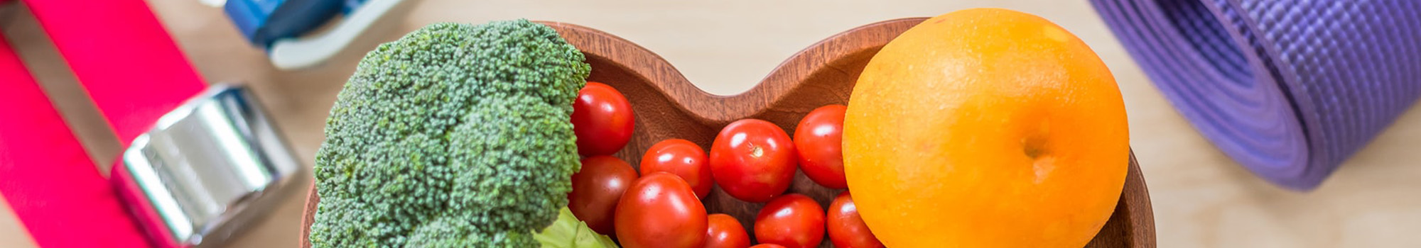
<svg viewBox="0 0 1421 248">
<path fill-rule="evenodd" d="M 844 105 L 820 106 L 794 128 L 794 150 L 804 176 L 820 186 L 847 188 L 844 179 Z"/>
</svg>

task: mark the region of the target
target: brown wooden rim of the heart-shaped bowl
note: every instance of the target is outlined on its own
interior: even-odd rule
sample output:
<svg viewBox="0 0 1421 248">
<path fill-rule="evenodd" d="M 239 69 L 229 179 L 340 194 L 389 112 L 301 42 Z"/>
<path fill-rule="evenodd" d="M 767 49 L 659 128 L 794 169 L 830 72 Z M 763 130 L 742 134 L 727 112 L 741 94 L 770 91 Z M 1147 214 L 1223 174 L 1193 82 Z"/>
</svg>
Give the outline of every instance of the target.
<svg viewBox="0 0 1421 248">
<path fill-rule="evenodd" d="M 871 23 L 860 27 L 850 28 L 847 31 L 834 34 L 818 43 L 814 43 L 799 52 L 794 52 L 784 62 L 780 62 L 769 75 L 766 75 L 757 85 L 752 86 L 749 91 L 737 95 L 715 95 L 705 92 L 703 89 L 695 86 L 681 74 L 671 62 L 668 62 L 661 55 L 647 50 L 635 43 L 625 38 L 604 33 L 601 30 L 560 23 L 560 21 L 534 21 L 553 27 L 570 43 L 585 41 L 585 40 L 601 40 L 611 41 L 598 45 L 578 47 L 588 57 L 600 57 L 608 61 L 627 62 L 622 64 L 624 69 L 631 71 L 637 77 L 652 77 L 642 78 L 647 82 L 661 82 L 651 84 L 649 86 L 657 91 L 666 94 L 675 108 L 681 112 L 689 113 L 701 122 L 725 125 L 730 123 L 739 118 L 755 116 L 756 113 L 764 112 L 770 108 L 770 103 L 777 102 L 780 98 L 789 95 L 796 84 L 804 82 L 809 75 L 790 74 L 786 68 L 813 68 L 823 67 L 827 61 L 826 58 L 837 58 L 848 55 L 854 51 L 863 51 L 868 48 L 877 48 L 887 44 L 894 35 L 891 34 L 897 30 L 902 30 L 902 26 L 911 27 L 922 23 L 926 17 L 909 17 L 909 18 L 894 18 L 878 23 Z M 898 31 L 901 33 L 901 31 Z M 874 37 L 864 40 L 863 37 Z M 887 38 L 877 38 L 887 37 Z M 837 47 L 831 50 L 830 47 Z M 844 48 L 847 47 L 847 48 Z M 817 52 L 816 52 L 817 51 Z M 682 94 L 675 94 L 682 92 Z M 773 96 L 773 98 L 766 98 Z M 685 106 L 684 102 L 713 102 L 726 106 L 730 111 L 710 111 L 710 109 L 693 109 Z M 1117 205 L 1113 214 L 1125 214 L 1124 221 L 1128 225 L 1128 239 L 1125 241 L 1131 248 L 1145 248 L 1155 247 L 1155 231 L 1154 231 L 1154 210 L 1150 203 L 1150 193 L 1145 187 L 1144 176 L 1140 173 L 1138 162 L 1135 160 L 1134 152 L 1130 153 L 1130 169 L 1125 176 L 1124 188 L 1121 188 L 1120 201 L 1123 205 Z M 310 248 L 311 244 L 307 239 L 311 232 L 311 222 L 315 218 L 315 208 L 320 203 L 320 196 L 315 191 L 315 181 L 311 181 L 310 190 L 307 193 L 306 207 L 301 214 L 301 237 L 300 245 L 303 248 Z"/>
</svg>

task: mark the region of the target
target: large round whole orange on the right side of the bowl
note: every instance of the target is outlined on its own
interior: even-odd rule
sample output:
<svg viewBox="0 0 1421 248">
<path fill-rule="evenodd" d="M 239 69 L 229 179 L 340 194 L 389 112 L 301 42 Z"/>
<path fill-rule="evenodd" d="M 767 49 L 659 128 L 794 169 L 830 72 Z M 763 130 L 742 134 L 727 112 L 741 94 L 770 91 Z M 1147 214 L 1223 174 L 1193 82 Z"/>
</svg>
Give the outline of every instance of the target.
<svg viewBox="0 0 1421 248">
<path fill-rule="evenodd" d="M 932 17 L 864 68 L 844 169 L 884 245 L 1084 247 L 1125 181 L 1130 130 L 1106 64 L 1042 17 Z"/>
</svg>

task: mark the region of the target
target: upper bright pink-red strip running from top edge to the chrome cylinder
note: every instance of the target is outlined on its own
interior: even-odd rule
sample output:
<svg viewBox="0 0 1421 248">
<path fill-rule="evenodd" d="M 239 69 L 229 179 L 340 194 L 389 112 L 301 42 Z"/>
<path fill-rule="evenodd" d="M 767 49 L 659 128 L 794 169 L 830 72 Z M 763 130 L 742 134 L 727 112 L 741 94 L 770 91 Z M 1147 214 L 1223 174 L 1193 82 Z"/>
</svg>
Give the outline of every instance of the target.
<svg viewBox="0 0 1421 248">
<path fill-rule="evenodd" d="M 144 135 L 207 84 L 144 0 L 24 0 L 118 140 Z"/>
</svg>

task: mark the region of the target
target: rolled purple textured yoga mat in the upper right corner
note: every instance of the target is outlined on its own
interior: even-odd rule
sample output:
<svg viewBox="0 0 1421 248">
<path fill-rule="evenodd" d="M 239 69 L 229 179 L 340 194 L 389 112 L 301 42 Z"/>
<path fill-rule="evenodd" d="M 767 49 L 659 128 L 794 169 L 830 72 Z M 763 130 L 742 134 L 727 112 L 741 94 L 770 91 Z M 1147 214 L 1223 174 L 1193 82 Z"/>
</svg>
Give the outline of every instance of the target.
<svg viewBox="0 0 1421 248">
<path fill-rule="evenodd" d="M 1421 96 L 1417 0 L 1091 0 L 1205 137 L 1312 190 Z"/>
</svg>

